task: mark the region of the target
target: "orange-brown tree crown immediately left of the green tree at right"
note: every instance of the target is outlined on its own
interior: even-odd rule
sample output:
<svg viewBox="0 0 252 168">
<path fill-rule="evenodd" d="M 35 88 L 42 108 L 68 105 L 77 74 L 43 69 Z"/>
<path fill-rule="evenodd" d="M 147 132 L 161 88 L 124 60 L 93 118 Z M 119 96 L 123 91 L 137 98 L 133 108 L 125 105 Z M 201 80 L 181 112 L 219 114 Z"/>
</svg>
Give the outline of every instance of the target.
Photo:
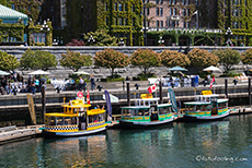
<svg viewBox="0 0 252 168">
<path fill-rule="evenodd" d="M 219 62 L 219 58 L 216 55 L 203 49 L 194 48 L 187 53 L 187 57 L 192 67 L 216 65 Z"/>
</svg>

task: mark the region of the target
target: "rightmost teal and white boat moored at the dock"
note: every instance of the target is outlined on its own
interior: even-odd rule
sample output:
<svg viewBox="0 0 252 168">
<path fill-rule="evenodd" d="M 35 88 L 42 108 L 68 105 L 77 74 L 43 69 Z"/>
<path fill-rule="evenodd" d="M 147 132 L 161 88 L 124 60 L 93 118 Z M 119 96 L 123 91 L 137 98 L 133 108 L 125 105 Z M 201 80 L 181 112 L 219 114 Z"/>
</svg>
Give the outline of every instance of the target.
<svg viewBox="0 0 252 168">
<path fill-rule="evenodd" d="M 199 95 L 195 101 L 184 103 L 184 119 L 195 121 L 219 120 L 229 116 L 228 98 L 219 95 Z"/>
</svg>

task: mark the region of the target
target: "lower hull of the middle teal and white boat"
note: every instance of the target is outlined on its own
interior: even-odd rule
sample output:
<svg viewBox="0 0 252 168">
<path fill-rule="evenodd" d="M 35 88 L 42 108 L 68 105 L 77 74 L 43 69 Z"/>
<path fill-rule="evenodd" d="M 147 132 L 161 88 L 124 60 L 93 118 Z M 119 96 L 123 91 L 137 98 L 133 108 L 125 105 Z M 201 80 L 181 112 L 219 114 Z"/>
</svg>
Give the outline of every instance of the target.
<svg viewBox="0 0 252 168">
<path fill-rule="evenodd" d="M 163 121 L 151 121 L 151 122 L 137 122 L 137 121 L 127 121 L 127 120 L 121 120 L 119 127 L 123 129 L 136 129 L 136 128 L 151 128 L 157 125 L 162 125 L 169 122 L 172 122 L 174 118 L 163 120 Z"/>
</svg>

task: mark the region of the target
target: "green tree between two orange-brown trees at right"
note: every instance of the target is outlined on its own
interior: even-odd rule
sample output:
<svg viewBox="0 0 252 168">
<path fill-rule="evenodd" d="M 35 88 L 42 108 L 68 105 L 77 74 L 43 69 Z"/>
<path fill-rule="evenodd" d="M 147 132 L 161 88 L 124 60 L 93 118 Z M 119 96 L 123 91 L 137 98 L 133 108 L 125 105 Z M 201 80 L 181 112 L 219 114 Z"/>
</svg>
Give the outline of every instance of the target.
<svg viewBox="0 0 252 168">
<path fill-rule="evenodd" d="M 224 65 L 225 72 L 228 72 L 232 67 L 241 61 L 241 55 L 232 49 L 219 49 L 213 51 L 219 57 L 219 63 Z"/>
</svg>

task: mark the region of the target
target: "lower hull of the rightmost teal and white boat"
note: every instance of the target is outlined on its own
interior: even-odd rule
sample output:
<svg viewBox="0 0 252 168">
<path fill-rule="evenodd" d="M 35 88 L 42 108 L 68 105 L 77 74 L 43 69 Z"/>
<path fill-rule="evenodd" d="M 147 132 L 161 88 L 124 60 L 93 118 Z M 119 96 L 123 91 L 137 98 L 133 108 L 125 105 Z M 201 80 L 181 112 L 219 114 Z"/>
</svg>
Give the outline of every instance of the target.
<svg viewBox="0 0 252 168">
<path fill-rule="evenodd" d="M 230 113 L 230 110 L 228 110 L 227 112 L 222 113 L 222 115 L 215 115 L 215 116 L 187 116 L 187 115 L 184 115 L 184 120 L 185 121 L 214 121 L 214 120 L 221 120 L 226 117 L 228 117 Z"/>
</svg>

